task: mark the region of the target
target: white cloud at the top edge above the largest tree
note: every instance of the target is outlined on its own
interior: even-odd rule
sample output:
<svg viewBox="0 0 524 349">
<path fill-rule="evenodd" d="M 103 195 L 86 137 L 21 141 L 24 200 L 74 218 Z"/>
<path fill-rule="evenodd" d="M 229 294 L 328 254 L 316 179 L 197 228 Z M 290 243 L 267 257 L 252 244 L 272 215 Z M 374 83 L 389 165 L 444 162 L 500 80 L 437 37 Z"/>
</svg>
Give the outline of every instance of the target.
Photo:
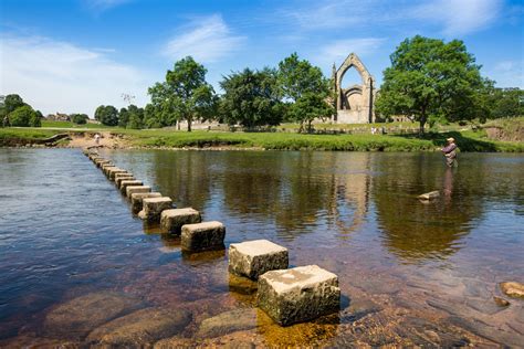
<svg viewBox="0 0 524 349">
<path fill-rule="evenodd" d="M 438 0 L 412 8 L 410 15 L 443 25 L 447 35 L 462 35 L 492 24 L 502 7 L 502 0 Z"/>
</svg>

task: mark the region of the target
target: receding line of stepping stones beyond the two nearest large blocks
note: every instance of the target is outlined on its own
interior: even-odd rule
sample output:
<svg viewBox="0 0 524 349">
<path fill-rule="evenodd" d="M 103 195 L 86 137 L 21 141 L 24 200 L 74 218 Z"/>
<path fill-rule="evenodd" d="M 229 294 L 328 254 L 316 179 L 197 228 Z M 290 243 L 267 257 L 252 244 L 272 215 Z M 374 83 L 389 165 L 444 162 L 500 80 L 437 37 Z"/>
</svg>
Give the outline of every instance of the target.
<svg viewBox="0 0 524 349">
<path fill-rule="evenodd" d="M 148 223 L 160 223 L 163 233 L 180 235 L 184 251 L 200 252 L 224 247 L 226 228 L 222 223 L 202 222 L 200 213 L 191 208 L 176 209 L 171 198 L 151 192 L 151 187 L 145 186 L 133 173 L 114 166 L 97 154 L 84 154 L 130 200 L 133 213 Z"/>
</svg>

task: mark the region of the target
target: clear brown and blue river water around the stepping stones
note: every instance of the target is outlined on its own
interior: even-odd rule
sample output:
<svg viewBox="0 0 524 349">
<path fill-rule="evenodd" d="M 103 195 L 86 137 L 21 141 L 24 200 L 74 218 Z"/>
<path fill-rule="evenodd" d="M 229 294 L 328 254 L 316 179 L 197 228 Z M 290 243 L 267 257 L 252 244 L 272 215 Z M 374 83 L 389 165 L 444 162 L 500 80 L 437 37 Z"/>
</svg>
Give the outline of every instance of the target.
<svg viewBox="0 0 524 349">
<path fill-rule="evenodd" d="M 524 283 L 523 155 L 461 154 L 451 170 L 429 152 L 103 155 L 178 208 L 222 222 L 226 247 L 268 239 L 289 248 L 292 266 L 337 274 L 340 310 L 279 327 L 256 309 L 255 284 L 229 275 L 227 251 L 182 254 L 80 150 L 0 149 L 1 347 L 86 343 L 95 328 L 70 336 L 51 314 L 104 293 L 190 315 L 151 345 L 524 343 L 524 300 L 499 287 Z M 432 190 L 441 198 L 417 199 Z M 211 318 L 226 324 L 202 331 Z"/>
</svg>

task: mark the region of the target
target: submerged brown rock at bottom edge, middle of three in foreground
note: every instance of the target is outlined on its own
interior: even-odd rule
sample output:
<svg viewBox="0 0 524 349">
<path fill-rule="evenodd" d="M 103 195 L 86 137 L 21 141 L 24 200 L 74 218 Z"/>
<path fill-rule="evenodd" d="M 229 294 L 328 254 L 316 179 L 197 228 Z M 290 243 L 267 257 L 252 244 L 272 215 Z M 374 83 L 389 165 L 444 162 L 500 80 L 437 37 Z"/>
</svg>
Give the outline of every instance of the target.
<svg viewBox="0 0 524 349">
<path fill-rule="evenodd" d="M 146 308 L 109 321 L 90 334 L 87 341 L 112 346 L 143 346 L 181 332 L 191 321 L 186 310 Z"/>
</svg>

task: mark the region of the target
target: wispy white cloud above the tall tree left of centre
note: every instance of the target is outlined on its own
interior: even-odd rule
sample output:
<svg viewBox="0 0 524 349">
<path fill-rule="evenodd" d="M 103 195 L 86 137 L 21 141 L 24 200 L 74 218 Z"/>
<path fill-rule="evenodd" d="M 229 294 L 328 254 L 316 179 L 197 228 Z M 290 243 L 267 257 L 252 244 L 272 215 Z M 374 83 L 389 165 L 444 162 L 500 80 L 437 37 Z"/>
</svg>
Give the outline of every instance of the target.
<svg viewBox="0 0 524 349">
<path fill-rule="evenodd" d="M 167 42 L 164 54 L 172 60 L 190 55 L 200 63 L 212 63 L 240 49 L 244 41 L 245 36 L 231 33 L 221 15 L 213 14 L 192 21 Z"/>
</svg>

